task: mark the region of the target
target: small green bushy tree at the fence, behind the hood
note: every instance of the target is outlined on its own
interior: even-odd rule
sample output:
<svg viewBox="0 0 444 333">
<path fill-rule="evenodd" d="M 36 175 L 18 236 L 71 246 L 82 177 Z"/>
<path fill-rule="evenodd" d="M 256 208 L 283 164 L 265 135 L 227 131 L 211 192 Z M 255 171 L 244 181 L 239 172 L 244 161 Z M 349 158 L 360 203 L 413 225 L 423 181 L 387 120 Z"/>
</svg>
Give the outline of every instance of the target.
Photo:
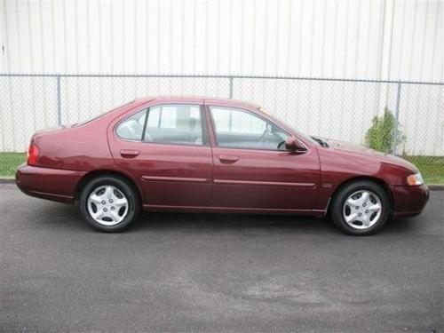
<svg viewBox="0 0 444 333">
<path fill-rule="evenodd" d="M 385 107 L 384 115 L 380 117 L 375 115 L 371 123 L 372 125 L 365 135 L 365 141 L 372 149 L 393 153 L 392 149 L 406 139 L 388 107 Z"/>
</svg>

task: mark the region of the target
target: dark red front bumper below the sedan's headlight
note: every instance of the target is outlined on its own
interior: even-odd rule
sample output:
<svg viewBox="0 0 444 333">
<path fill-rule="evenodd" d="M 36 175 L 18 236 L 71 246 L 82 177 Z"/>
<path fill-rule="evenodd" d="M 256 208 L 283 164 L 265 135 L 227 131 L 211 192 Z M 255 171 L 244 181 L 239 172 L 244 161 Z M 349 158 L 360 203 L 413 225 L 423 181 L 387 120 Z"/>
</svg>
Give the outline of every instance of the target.
<svg viewBox="0 0 444 333">
<path fill-rule="evenodd" d="M 390 186 L 393 194 L 393 218 L 408 218 L 421 214 L 429 201 L 429 188 L 421 186 Z"/>
</svg>

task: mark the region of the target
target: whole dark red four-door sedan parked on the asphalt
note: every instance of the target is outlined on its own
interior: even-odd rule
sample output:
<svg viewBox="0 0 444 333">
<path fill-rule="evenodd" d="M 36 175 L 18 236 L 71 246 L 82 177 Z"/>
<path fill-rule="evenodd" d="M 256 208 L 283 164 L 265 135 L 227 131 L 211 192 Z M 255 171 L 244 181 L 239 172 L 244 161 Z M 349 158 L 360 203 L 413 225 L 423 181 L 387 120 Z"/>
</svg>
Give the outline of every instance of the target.
<svg viewBox="0 0 444 333">
<path fill-rule="evenodd" d="M 37 132 L 16 183 L 78 202 L 105 232 L 145 210 L 323 217 L 348 234 L 424 210 L 416 167 L 393 155 L 306 136 L 231 99 L 137 99 L 87 123 Z"/>
</svg>

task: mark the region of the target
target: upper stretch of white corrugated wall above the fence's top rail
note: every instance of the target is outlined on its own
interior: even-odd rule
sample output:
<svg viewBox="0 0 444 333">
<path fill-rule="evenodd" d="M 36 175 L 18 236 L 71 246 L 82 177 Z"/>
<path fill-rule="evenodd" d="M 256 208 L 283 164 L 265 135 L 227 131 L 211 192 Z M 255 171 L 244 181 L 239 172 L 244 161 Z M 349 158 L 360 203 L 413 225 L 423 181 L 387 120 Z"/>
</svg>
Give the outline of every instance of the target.
<svg viewBox="0 0 444 333">
<path fill-rule="evenodd" d="M 441 81 L 441 1 L 11 1 L 9 73 Z"/>
</svg>

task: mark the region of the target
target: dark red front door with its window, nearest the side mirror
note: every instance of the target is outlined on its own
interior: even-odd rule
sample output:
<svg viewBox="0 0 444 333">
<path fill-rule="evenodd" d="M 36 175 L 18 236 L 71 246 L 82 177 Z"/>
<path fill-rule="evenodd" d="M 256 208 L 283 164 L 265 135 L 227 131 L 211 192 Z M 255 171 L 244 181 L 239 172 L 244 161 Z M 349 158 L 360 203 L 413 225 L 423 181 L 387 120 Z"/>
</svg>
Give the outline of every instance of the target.
<svg viewBox="0 0 444 333">
<path fill-rule="evenodd" d="M 264 117 L 233 107 L 210 107 L 213 201 L 217 207 L 312 210 L 319 186 L 317 152 L 285 150 L 289 134 Z"/>
</svg>

